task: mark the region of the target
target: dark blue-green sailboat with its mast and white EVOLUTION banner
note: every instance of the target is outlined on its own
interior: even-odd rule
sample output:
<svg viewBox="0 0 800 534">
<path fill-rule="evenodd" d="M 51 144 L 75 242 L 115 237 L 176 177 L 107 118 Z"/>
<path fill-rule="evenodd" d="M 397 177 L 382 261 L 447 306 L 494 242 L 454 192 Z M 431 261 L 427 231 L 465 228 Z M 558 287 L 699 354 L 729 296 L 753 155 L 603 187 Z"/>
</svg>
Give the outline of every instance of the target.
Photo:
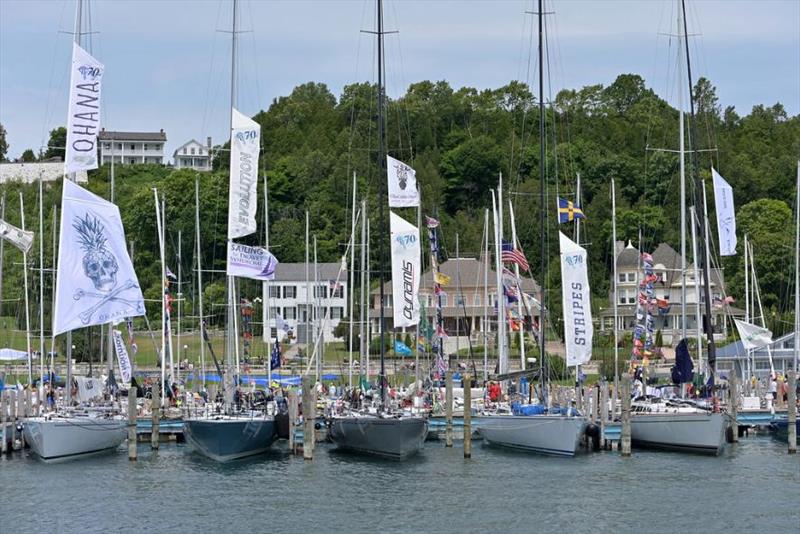
<svg viewBox="0 0 800 534">
<path fill-rule="evenodd" d="M 186 441 L 192 448 L 218 462 L 227 462 L 245 458 L 267 451 L 277 438 L 275 416 L 267 409 L 256 409 L 241 402 L 234 402 L 235 391 L 239 382 L 238 328 L 236 316 L 236 284 L 231 274 L 231 254 L 236 245 L 234 238 L 243 237 L 255 232 L 255 206 L 257 204 L 257 183 L 254 178 L 258 169 L 258 152 L 260 148 L 260 127 L 258 123 L 242 115 L 236 110 L 236 41 L 240 30 L 238 24 L 238 2 L 233 0 L 232 22 L 232 61 L 231 61 L 231 185 L 228 219 L 228 335 L 226 346 L 226 372 L 223 378 L 224 405 L 208 406 L 207 411 L 184 419 L 183 431 Z M 242 173 L 249 174 L 249 184 L 245 185 Z M 240 204 L 240 195 L 249 195 Z M 246 213 L 236 206 L 251 206 Z M 236 216 L 233 216 L 234 212 Z M 197 233 L 199 235 L 199 220 Z M 248 247 L 250 248 L 250 247 Z M 265 249 L 258 249 L 262 254 Z M 268 253 L 267 253 L 268 254 Z M 199 258 L 199 256 L 198 256 Z M 273 266 L 274 267 L 274 266 Z M 199 272 L 199 263 L 198 263 Z M 273 269 L 274 274 L 274 269 Z M 201 329 L 206 337 L 205 325 Z M 212 350 L 209 344 L 209 349 Z M 235 355 L 235 362 L 234 362 Z M 214 358 L 216 363 L 216 357 Z M 204 377 L 205 378 L 205 377 Z M 232 380 L 233 379 L 233 380 Z"/>
</svg>

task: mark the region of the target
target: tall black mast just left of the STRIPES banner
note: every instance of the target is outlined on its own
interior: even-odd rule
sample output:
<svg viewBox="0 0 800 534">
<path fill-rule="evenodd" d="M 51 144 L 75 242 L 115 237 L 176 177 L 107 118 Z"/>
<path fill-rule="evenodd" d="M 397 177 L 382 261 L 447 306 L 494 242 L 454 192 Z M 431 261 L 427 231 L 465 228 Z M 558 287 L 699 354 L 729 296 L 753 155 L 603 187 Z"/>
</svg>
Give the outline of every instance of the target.
<svg viewBox="0 0 800 534">
<path fill-rule="evenodd" d="M 541 368 L 542 397 L 547 399 L 547 361 L 544 350 L 545 325 L 545 271 L 547 246 L 545 243 L 545 175 L 544 175 L 544 2 L 539 0 L 539 365 Z"/>
</svg>

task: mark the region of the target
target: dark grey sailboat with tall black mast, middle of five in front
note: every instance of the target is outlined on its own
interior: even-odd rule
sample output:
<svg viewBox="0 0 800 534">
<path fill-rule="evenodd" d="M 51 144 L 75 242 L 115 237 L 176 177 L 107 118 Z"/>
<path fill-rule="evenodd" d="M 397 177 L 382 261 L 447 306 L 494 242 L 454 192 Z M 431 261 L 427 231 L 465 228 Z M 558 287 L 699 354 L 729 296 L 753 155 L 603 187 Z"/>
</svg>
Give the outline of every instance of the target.
<svg viewBox="0 0 800 534">
<path fill-rule="evenodd" d="M 378 164 L 387 172 L 386 134 L 384 128 L 384 57 L 383 57 L 383 1 L 377 0 L 378 38 Z M 340 449 L 374 456 L 405 459 L 416 454 L 428 434 L 428 421 L 424 416 L 398 413 L 386 406 L 386 336 L 384 269 L 386 256 L 386 221 L 384 217 L 384 186 L 380 186 L 380 405 L 364 411 L 349 410 L 330 420 L 328 436 Z M 366 218 L 366 214 L 364 215 Z"/>
</svg>

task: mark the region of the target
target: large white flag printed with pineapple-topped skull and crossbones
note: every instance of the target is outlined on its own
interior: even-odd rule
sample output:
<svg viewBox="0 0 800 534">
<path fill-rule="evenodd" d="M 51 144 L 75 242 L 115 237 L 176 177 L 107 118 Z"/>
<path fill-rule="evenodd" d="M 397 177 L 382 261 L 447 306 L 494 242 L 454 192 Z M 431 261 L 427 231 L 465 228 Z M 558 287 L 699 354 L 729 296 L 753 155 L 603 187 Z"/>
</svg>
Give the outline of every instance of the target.
<svg viewBox="0 0 800 534">
<path fill-rule="evenodd" d="M 119 208 L 64 180 L 53 335 L 145 314 Z"/>
</svg>

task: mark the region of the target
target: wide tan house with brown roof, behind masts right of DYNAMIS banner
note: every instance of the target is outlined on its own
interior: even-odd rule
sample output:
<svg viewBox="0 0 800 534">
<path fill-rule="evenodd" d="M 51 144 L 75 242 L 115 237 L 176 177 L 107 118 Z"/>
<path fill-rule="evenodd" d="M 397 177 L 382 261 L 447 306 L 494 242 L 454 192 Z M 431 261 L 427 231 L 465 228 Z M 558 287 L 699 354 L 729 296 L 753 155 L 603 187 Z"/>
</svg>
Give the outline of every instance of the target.
<svg viewBox="0 0 800 534">
<path fill-rule="evenodd" d="M 450 278 L 442 296 L 442 317 L 445 339 L 445 351 L 452 352 L 458 348 L 466 348 L 471 341 L 483 343 L 484 332 L 497 332 L 497 274 L 491 267 L 486 268 L 483 261 L 476 258 L 452 258 L 439 265 L 439 272 Z M 484 283 L 487 281 L 488 283 Z M 520 305 L 510 304 L 512 315 L 525 321 L 539 324 L 539 303 L 535 297 L 539 294 L 539 285 L 529 276 L 520 273 Z M 394 329 L 392 282 L 384 284 L 387 330 Z M 433 274 L 430 270 L 422 275 L 419 295 L 425 306 L 424 312 L 430 324 L 435 325 L 436 296 L 433 290 Z M 522 305 L 527 301 L 527 307 Z M 373 335 L 379 332 L 380 322 L 380 290 L 376 288 L 371 294 L 370 328 Z M 520 310 L 521 308 L 521 310 Z M 533 315 L 531 317 L 528 310 Z M 521 312 L 521 313 L 520 313 Z M 486 319 L 484 320 L 484 315 Z M 412 329 L 408 329 L 412 330 Z M 526 332 L 529 331 L 526 328 Z M 401 330 L 398 330 L 398 333 Z M 494 337 L 492 337 L 494 339 Z"/>
</svg>

